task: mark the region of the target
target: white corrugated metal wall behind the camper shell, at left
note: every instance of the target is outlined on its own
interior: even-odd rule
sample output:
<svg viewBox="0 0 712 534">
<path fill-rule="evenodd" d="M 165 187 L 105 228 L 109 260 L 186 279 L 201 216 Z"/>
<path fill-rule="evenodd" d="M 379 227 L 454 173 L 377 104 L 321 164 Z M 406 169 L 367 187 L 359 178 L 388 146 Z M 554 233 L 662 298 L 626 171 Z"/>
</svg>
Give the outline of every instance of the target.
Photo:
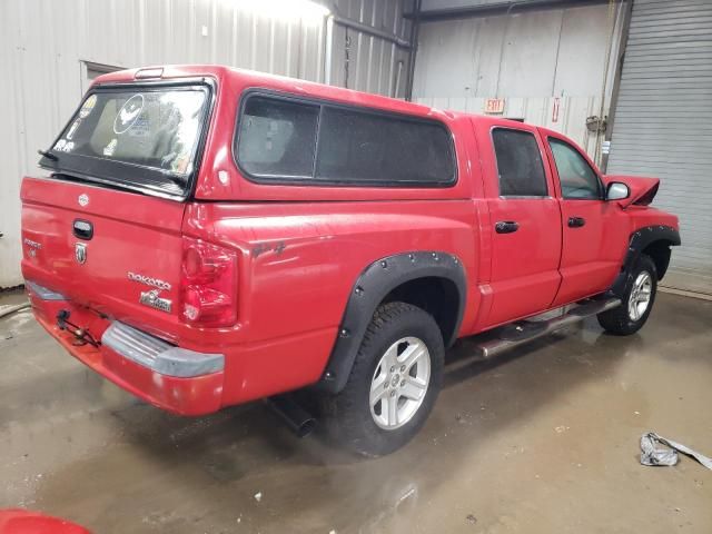
<svg viewBox="0 0 712 534">
<path fill-rule="evenodd" d="M 407 38 L 406 0 L 338 0 L 335 11 Z M 21 283 L 20 179 L 40 174 L 46 148 L 79 102 L 82 61 L 117 67 L 224 63 L 324 81 L 323 17 L 287 18 L 251 0 L 0 0 L 0 287 Z M 255 9 L 256 7 L 256 9 Z M 293 10 L 294 11 L 294 10 Z M 403 95 L 407 51 L 387 40 L 334 31 L 332 83 Z M 348 62 L 347 62 L 348 59 Z"/>
</svg>

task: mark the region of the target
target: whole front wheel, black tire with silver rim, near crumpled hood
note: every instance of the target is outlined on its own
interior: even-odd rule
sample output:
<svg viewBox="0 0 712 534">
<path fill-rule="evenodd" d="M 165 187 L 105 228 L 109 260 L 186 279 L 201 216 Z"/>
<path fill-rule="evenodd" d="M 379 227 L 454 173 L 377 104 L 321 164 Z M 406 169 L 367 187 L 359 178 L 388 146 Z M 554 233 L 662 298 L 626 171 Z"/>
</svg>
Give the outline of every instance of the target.
<svg viewBox="0 0 712 534">
<path fill-rule="evenodd" d="M 641 255 L 633 267 L 617 308 L 599 314 L 599 324 L 611 334 L 629 336 L 640 330 L 655 301 L 657 271 L 650 256 Z"/>
</svg>

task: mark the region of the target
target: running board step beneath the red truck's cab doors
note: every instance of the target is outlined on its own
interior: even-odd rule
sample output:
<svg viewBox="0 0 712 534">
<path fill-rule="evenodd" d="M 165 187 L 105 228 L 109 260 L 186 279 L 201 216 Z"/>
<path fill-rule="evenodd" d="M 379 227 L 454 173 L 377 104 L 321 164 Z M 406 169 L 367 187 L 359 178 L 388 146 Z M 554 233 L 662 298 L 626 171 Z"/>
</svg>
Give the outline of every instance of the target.
<svg viewBox="0 0 712 534">
<path fill-rule="evenodd" d="M 523 320 L 494 330 L 496 337 L 476 345 L 479 357 L 492 358 L 518 345 L 551 334 L 586 317 L 616 308 L 620 298 L 593 299 L 570 309 L 564 315 L 547 320 Z"/>
</svg>

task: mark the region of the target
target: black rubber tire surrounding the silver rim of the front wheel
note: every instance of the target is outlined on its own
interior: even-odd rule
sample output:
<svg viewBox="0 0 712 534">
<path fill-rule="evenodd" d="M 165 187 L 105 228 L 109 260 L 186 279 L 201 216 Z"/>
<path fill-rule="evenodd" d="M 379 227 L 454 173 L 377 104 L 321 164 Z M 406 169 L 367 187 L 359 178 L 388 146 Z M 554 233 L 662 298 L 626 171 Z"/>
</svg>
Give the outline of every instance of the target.
<svg viewBox="0 0 712 534">
<path fill-rule="evenodd" d="M 650 300 L 647 303 L 645 313 L 643 313 L 637 319 L 633 319 L 629 312 L 629 305 L 631 303 L 631 299 L 634 298 L 635 281 L 643 273 L 647 273 L 651 280 Z M 640 258 L 629 274 L 627 281 L 625 284 L 625 291 L 621 296 L 621 300 L 623 301 L 623 304 L 621 304 L 621 306 L 619 306 L 617 308 L 613 308 L 609 312 L 599 314 L 599 324 L 606 332 L 616 336 L 630 336 L 631 334 L 635 334 L 643 327 L 643 325 L 647 320 L 647 317 L 653 309 L 653 304 L 655 303 L 656 293 L 657 270 L 655 269 L 655 264 L 650 258 L 650 256 L 641 254 Z"/>
</svg>

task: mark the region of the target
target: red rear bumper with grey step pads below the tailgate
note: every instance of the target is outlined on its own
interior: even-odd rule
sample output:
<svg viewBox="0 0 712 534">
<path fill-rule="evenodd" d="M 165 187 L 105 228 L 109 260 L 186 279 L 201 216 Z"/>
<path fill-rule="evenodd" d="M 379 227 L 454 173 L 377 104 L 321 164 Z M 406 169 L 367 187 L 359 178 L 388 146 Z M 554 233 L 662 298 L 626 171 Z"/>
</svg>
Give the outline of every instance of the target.
<svg viewBox="0 0 712 534">
<path fill-rule="evenodd" d="M 73 357 L 137 397 L 179 415 L 217 412 L 222 404 L 224 356 L 181 349 L 119 322 L 75 306 L 56 293 L 27 284 L 37 320 Z M 60 309 L 102 343 L 76 345 L 57 325 Z"/>
</svg>

